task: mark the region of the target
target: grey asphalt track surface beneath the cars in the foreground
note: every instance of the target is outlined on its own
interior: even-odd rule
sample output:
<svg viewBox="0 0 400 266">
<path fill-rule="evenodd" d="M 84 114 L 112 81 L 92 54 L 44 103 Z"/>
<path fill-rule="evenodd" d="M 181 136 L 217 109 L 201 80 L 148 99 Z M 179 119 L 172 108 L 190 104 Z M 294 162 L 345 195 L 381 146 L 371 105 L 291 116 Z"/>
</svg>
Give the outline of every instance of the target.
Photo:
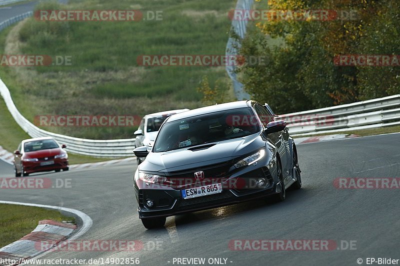
<svg viewBox="0 0 400 266">
<path fill-rule="evenodd" d="M 30 175 L 71 179 L 70 188 L 2 189 L 0 200 L 76 209 L 93 220 L 80 240 L 137 240 L 136 252 L 53 252 L 42 259 L 139 258 L 140 265 L 177 265 L 173 258 L 226 258 L 227 265 L 358 265 L 361 258 L 400 259 L 398 189 L 343 190 L 338 177 L 400 177 L 400 134 L 298 145 L 303 188 L 282 203 L 262 200 L 167 218 L 145 230 L 136 213 L 136 164 Z M 1 177 L 12 166 L 0 162 Z M 29 176 L 29 177 L 30 177 Z M 230 240 L 356 241 L 355 250 L 232 251 Z M 153 244 L 158 242 L 158 249 Z M 354 242 L 353 242 L 354 243 Z M 170 263 L 168 263 L 170 262 Z M 232 263 L 230 263 L 232 262 Z M 87 265 L 87 264 L 86 264 Z M 205 264 L 208 265 L 208 264 Z"/>
</svg>

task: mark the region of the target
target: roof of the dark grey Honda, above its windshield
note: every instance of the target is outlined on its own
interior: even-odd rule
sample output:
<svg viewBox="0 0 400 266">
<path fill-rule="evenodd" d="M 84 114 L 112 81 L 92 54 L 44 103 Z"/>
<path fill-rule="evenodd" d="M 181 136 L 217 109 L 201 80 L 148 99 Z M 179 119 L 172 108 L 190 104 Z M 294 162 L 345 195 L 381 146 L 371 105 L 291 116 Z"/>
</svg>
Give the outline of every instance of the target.
<svg viewBox="0 0 400 266">
<path fill-rule="evenodd" d="M 248 100 L 248 101 L 228 102 L 228 103 L 222 103 L 222 104 L 201 107 L 201 108 L 186 111 L 184 113 L 174 114 L 168 118 L 167 122 L 172 122 L 172 121 L 176 121 L 176 120 L 180 120 L 180 119 L 184 119 L 184 118 L 192 117 L 192 116 L 196 116 L 196 115 L 201 115 L 201 114 L 214 113 L 214 112 L 232 110 L 232 109 L 243 108 L 243 107 L 250 107 L 252 103 L 255 103 L 255 102 Z"/>
</svg>

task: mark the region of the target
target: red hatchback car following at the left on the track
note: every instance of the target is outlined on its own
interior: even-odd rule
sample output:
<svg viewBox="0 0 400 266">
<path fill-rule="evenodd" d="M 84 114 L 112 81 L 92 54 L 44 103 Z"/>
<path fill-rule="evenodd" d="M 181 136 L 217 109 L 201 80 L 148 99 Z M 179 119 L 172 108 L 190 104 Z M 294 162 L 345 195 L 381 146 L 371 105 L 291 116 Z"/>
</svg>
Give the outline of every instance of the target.
<svg viewBox="0 0 400 266">
<path fill-rule="evenodd" d="M 68 171 L 66 145 L 59 145 L 53 138 L 25 139 L 14 151 L 15 177 L 35 172 Z"/>
</svg>

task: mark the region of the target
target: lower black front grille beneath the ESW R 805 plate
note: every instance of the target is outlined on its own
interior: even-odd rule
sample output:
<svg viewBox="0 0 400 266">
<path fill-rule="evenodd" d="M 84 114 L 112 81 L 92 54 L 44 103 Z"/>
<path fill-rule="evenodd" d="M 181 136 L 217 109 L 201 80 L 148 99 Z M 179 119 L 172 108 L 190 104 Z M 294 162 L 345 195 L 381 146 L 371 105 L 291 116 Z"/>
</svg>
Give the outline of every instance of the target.
<svg viewBox="0 0 400 266">
<path fill-rule="evenodd" d="M 191 199 L 181 199 L 177 205 L 177 211 L 184 211 L 189 209 L 204 208 L 211 205 L 229 203 L 235 199 L 232 193 L 228 190 L 223 190 L 221 193 L 202 196 Z"/>
</svg>

